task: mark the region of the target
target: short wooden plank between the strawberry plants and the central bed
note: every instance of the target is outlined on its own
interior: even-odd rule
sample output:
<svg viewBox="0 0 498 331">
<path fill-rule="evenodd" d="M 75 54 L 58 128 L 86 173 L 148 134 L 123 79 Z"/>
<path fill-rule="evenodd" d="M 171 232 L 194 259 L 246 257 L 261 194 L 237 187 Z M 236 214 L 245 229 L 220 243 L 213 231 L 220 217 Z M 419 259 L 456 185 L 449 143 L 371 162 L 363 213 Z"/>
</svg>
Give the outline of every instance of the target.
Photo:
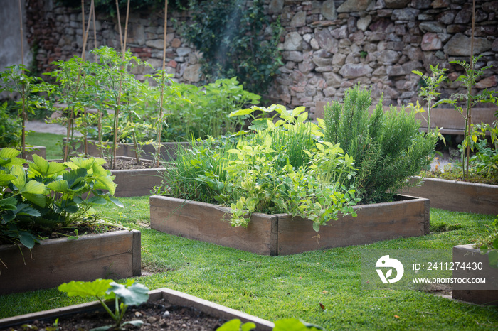
<svg viewBox="0 0 498 331">
<path fill-rule="evenodd" d="M 162 184 L 165 168 L 111 170 L 116 178 L 116 197 L 141 197 L 150 195 L 154 186 Z"/>
</svg>

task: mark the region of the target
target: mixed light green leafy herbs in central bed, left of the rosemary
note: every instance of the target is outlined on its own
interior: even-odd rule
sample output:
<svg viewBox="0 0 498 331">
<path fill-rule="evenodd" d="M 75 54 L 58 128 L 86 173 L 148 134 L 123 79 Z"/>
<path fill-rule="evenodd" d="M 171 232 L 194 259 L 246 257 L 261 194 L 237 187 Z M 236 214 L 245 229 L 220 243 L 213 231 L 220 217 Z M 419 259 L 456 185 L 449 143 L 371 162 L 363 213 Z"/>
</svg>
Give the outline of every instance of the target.
<svg viewBox="0 0 498 331">
<path fill-rule="evenodd" d="M 279 116 L 275 124 L 271 112 Z M 356 215 L 359 199 L 346 185 L 354 161 L 337 144 L 317 143 L 321 130 L 307 121 L 304 107 L 251 107 L 231 116 L 253 116 L 252 133 L 236 143 L 211 138 L 179 151 L 161 192 L 228 205 L 233 226 L 246 227 L 253 212 L 290 213 L 312 219 L 318 231 L 339 215 Z"/>
</svg>

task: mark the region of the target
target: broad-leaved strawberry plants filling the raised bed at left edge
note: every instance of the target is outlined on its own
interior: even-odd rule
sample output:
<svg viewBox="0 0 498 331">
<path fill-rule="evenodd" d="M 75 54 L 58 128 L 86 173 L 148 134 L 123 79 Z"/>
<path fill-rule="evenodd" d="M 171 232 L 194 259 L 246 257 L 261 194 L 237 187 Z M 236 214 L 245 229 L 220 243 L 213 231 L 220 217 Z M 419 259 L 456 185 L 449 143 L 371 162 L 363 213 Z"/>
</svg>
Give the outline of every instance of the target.
<svg viewBox="0 0 498 331">
<path fill-rule="evenodd" d="M 0 151 L 1 239 L 31 249 L 43 231 L 89 222 L 95 205 L 112 202 L 122 207 L 112 197 L 116 184 L 110 171 L 102 168 L 104 160 L 72 158 L 57 163 L 33 155 L 26 169 L 19 153 L 14 148 Z"/>
</svg>

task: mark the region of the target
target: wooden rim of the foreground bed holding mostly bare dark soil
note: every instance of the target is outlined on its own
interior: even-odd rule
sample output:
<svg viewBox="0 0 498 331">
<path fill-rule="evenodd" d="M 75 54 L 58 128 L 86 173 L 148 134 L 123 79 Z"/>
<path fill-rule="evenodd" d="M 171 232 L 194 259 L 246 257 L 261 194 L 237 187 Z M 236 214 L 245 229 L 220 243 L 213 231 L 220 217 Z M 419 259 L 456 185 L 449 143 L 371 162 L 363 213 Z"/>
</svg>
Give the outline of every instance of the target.
<svg viewBox="0 0 498 331">
<path fill-rule="evenodd" d="M 158 288 L 157 290 L 149 291 L 149 301 L 164 299 L 171 305 L 178 305 L 186 308 L 194 308 L 202 313 L 206 313 L 215 318 L 223 320 L 232 320 L 238 318 L 242 322 L 253 322 L 258 331 L 270 331 L 275 327 L 275 324 L 263 318 L 258 318 L 239 310 L 228 308 L 218 303 L 213 303 L 208 300 L 197 298 L 194 295 L 189 295 L 183 292 L 174 291 L 169 288 Z M 114 304 L 114 301 L 112 303 Z M 51 318 L 60 318 L 67 315 L 88 312 L 92 310 L 100 310 L 102 305 L 98 301 L 91 303 L 82 303 L 80 305 L 70 305 L 63 308 L 55 308 L 45 310 L 38 313 L 31 313 L 25 315 L 14 316 L 11 318 L 4 318 L 0 320 L 0 327 L 2 329 L 14 327 L 16 325 L 32 322 L 33 320 L 48 320 Z"/>
</svg>

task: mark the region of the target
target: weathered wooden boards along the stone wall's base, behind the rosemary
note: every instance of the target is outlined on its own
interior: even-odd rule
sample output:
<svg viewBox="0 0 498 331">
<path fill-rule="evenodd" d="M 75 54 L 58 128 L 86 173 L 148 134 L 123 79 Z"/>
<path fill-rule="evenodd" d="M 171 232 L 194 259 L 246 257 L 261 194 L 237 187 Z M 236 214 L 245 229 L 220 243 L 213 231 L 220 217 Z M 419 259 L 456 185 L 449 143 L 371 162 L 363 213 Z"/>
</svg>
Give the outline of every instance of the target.
<svg viewBox="0 0 498 331">
<path fill-rule="evenodd" d="M 317 102 L 317 110 L 315 112 L 315 118 L 323 119 L 324 117 L 324 107 L 328 102 Z M 402 107 L 394 107 L 398 112 L 401 111 Z M 389 109 L 389 107 L 383 107 L 384 110 Z M 372 114 L 375 107 L 369 108 L 369 113 Z M 497 112 L 498 108 L 472 108 L 472 123 L 474 124 L 492 124 L 497 118 L 494 113 Z M 405 107 L 406 112 L 410 112 L 409 107 Z M 427 116 L 427 113 L 424 113 Z M 420 131 L 427 131 L 427 121 L 421 114 L 415 114 L 415 119 L 420 120 Z M 434 108 L 430 112 L 430 125 L 431 129 L 440 128 L 441 134 L 464 134 L 465 132 L 465 119 L 460 112 L 457 112 L 453 108 Z"/>
</svg>

